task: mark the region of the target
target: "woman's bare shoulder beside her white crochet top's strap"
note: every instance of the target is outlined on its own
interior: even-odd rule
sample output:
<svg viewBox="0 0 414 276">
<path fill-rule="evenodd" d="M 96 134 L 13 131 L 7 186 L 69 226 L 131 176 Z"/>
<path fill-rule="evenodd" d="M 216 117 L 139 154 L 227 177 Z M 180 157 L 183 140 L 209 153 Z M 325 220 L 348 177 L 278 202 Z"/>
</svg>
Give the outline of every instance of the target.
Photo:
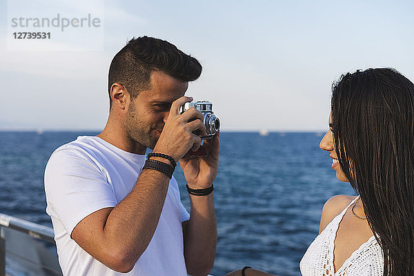
<svg viewBox="0 0 414 276">
<path fill-rule="evenodd" d="M 319 234 L 326 226 L 346 208 L 356 196 L 351 195 L 334 195 L 325 202 L 322 209 L 321 222 L 319 224 Z"/>
</svg>

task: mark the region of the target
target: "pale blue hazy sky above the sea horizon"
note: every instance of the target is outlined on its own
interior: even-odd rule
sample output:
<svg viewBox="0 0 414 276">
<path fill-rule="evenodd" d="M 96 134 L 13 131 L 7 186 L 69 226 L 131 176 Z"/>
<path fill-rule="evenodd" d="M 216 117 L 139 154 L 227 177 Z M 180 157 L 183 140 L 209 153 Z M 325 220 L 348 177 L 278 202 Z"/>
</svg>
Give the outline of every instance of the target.
<svg viewBox="0 0 414 276">
<path fill-rule="evenodd" d="M 326 130 L 333 81 L 357 69 L 414 81 L 413 1 L 50 1 L 0 0 L 0 130 L 103 129 L 110 61 L 143 35 L 200 61 L 186 95 L 212 101 L 223 131 Z M 39 50 L 12 38 L 19 12 L 101 26 L 52 30 L 63 40 Z"/>
</svg>

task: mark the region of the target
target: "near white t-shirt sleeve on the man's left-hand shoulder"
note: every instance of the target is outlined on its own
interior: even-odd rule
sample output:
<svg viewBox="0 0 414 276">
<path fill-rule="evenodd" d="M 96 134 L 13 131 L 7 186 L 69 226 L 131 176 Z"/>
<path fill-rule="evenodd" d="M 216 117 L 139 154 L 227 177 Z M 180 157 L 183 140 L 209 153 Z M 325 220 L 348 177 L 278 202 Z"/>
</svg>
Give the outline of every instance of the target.
<svg viewBox="0 0 414 276">
<path fill-rule="evenodd" d="M 115 207 L 114 192 L 99 166 L 85 152 L 71 148 L 55 151 L 45 170 L 48 210 L 69 235 L 86 216 Z"/>
</svg>

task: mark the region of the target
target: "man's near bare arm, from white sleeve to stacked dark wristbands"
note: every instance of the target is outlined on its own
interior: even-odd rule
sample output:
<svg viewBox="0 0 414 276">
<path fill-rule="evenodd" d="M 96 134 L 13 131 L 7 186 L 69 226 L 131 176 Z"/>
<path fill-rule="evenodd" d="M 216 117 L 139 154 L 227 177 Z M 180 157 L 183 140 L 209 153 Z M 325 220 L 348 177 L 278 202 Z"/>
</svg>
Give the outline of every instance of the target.
<svg viewBox="0 0 414 276">
<path fill-rule="evenodd" d="M 96 224 L 86 221 L 86 227 L 82 226 L 81 230 L 75 228 L 73 238 L 106 266 L 128 272 L 155 233 L 169 180 L 161 172 L 144 170 L 132 191 L 110 210 L 107 217 L 101 217 Z M 97 228 L 92 229 L 91 225 Z"/>
</svg>

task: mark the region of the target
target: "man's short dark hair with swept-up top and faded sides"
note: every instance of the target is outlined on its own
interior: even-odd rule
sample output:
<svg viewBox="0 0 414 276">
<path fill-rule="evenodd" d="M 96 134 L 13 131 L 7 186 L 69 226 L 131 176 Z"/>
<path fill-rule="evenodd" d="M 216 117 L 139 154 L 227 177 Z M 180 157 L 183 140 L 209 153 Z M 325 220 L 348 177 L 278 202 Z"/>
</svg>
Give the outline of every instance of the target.
<svg viewBox="0 0 414 276">
<path fill-rule="evenodd" d="M 108 93 L 113 83 L 120 83 L 132 98 L 150 89 L 151 72 L 158 70 L 181 81 L 195 81 L 201 64 L 168 41 L 153 37 L 133 38 L 112 59 L 108 75 Z M 112 106 L 112 99 L 110 106 Z"/>
</svg>

